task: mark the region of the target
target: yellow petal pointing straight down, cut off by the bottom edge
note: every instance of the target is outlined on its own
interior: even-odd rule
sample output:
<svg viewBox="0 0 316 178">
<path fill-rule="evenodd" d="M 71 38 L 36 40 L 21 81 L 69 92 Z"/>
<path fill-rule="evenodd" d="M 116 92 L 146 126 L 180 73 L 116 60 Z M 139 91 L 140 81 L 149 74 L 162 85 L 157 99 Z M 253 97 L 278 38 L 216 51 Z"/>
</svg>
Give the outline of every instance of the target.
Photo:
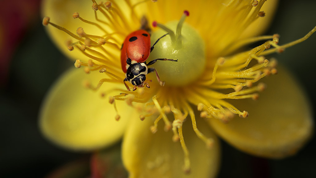
<svg viewBox="0 0 316 178">
<path fill-rule="evenodd" d="M 183 136 L 191 158 L 189 175 L 183 172 L 183 151 L 179 142 L 172 141 L 172 132 L 165 132 L 161 122 L 158 131 L 153 134 L 149 130 L 150 125 L 153 125 L 151 118 L 133 120 L 124 135 L 123 163 L 131 178 L 215 177 L 219 168 L 219 142 L 202 119 L 197 121 L 197 126 L 206 136 L 214 138 L 215 143 L 214 147 L 207 149 L 195 135 L 190 120 L 184 122 Z"/>
</svg>

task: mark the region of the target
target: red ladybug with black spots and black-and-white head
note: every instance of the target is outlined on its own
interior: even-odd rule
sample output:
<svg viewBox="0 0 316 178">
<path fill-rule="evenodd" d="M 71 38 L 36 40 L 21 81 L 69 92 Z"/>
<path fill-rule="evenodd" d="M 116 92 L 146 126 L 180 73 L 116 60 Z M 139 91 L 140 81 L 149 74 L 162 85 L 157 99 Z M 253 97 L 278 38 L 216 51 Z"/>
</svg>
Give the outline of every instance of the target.
<svg viewBox="0 0 316 178">
<path fill-rule="evenodd" d="M 157 80 L 161 86 L 165 85 L 164 81 L 161 81 L 158 75 L 157 70 L 154 67 L 147 67 L 154 64 L 157 60 L 171 60 L 178 61 L 173 59 L 155 59 L 146 64 L 146 60 L 149 57 L 150 52 L 154 49 L 155 44 L 163 37 L 168 34 L 165 34 L 157 39 L 153 46 L 150 46 L 150 34 L 145 30 L 137 30 L 128 35 L 121 48 L 121 65 L 122 70 L 125 73 L 124 84 L 128 90 L 130 88 L 125 83 L 129 81 L 134 85 L 133 91 L 138 87 L 147 86 L 149 84 L 145 82 L 146 75 L 148 73 L 156 73 Z"/>
</svg>

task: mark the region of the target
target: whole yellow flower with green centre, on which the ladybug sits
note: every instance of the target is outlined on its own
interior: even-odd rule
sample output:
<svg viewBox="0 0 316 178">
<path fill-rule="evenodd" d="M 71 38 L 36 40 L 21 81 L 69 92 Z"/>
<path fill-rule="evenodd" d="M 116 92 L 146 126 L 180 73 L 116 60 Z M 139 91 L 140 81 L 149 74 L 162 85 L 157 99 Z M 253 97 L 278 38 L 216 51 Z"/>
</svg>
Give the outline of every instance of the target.
<svg viewBox="0 0 316 178">
<path fill-rule="evenodd" d="M 315 28 L 279 46 L 278 35 L 258 36 L 276 1 L 111 2 L 46 0 L 43 5 L 50 16 L 43 24 L 80 68 L 65 73 L 44 102 L 40 126 L 53 142 L 94 150 L 123 137 L 130 177 L 214 177 L 220 160 L 216 135 L 269 158 L 292 155 L 308 140 L 313 121 L 307 99 L 293 77 L 282 67 L 277 71 L 276 60 L 264 55 L 304 41 Z M 184 10 L 190 16 L 182 15 Z M 70 21 L 71 13 L 75 19 Z M 148 74 L 150 88 L 127 91 L 120 48 L 129 33 L 147 24 L 144 19 L 158 22 L 151 28 L 152 44 L 169 33 L 148 61 L 178 61 L 155 63 L 165 86 Z M 258 41 L 266 42 L 245 48 Z M 258 80 L 268 88 L 253 101 L 265 89 Z"/>
</svg>

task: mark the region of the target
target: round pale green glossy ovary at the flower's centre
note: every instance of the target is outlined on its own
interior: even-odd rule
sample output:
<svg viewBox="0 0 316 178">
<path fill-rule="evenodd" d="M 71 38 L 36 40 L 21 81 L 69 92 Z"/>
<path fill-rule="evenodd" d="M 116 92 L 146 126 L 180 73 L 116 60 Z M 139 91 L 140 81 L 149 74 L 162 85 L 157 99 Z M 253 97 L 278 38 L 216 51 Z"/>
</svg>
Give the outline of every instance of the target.
<svg viewBox="0 0 316 178">
<path fill-rule="evenodd" d="M 165 25 L 175 31 L 177 24 L 178 22 L 169 22 Z M 151 44 L 166 33 L 162 29 L 154 31 L 150 37 Z M 205 45 L 197 31 L 184 23 L 180 38 L 181 41 L 173 43 L 170 35 L 161 38 L 147 60 L 149 62 L 158 58 L 178 59 L 178 62 L 157 61 L 154 65 L 149 66 L 157 69 L 160 79 L 166 81 L 166 86 L 190 84 L 197 80 L 205 69 Z"/>
</svg>

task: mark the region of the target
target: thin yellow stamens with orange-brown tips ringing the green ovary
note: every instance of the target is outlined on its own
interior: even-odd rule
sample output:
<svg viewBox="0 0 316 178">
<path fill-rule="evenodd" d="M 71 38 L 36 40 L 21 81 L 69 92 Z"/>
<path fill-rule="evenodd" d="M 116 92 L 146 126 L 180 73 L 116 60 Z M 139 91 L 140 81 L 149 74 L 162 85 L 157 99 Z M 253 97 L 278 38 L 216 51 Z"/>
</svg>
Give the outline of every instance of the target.
<svg viewBox="0 0 316 178">
<path fill-rule="evenodd" d="M 77 29 L 76 35 L 63 27 L 50 22 L 48 17 L 43 19 L 43 24 L 45 26 L 50 24 L 76 39 L 75 42 L 68 41 L 67 48 L 70 51 L 73 51 L 76 48 L 89 59 L 84 62 L 76 60 L 74 64 L 76 68 L 84 67 L 84 72 L 86 73 L 99 71 L 100 73 L 106 74 L 106 78 L 100 79 L 99 83 L 95 87 L 88 82 L 85 83 L 86 87 L 97 90 L 104 82 L 123 83 L 125 76 L 121 71 L 119 62 L 119 46 L 123 42 L 125 36 L 129 32 L 133 31 L 132 29 L 135 29 L 135 27 L 132 28 L 132 24 L 129 20 L 132 19 L 133 23 L 140 22 L 141 20 L 140 17 L 136 16 L 134 11 L 135 6 L 140 3 L 132 5 L 129 1 L 126 1 L 128 7 L 131 9 L 131 19 L 129 19 L 115 1 L 107 1 L 106 3 L 100 4 L 96 3 L 94 0 L 92 0 L 92 2 L 92 9 L 95 12 L 95 20 L 97 23 L 83 19 L 77 12 L 73 13 L 72 16 L 75 19 L 80 19 L 82 22 L 88 23 L 95 26 L 97 29 L 100 29 L 104 33 L 103 35 L 87 34 L 81 27 Z M 226 7 L 229 7 L 234 3 L 235 1 L 232 0 L 226 4 Z M 251 4 L 249 4 L 249 7 L 247 8 L 254 7 L 255 10 L 251 11 L 252 14 L 250 14 L 245 20 L 244 27 L 242 27 L 243 29 L 249 26 L 250 23 L 258 17 L 264 17 L 265 13 L 263 11 L 259 11 L 263 3 L 264 0 L 260 2 L 254 0 Z M 97 16 L 97 11 L 100 11 L 107 21 L 100 20 Z M 188 15 L 188 11 L 186 11 L 184 16 Z M 182 21 L 181 23 L 183 23 L 184 19 L 185 17 L 182 17 L 180 20 Z M 165 28 L 162 24 L 156 22 L 154 25 Z M 110 27 L 112 30 L 108 31 L 103 28 L 103 26 Z M 167 31 L 168 30 L 169 29 L 167 29 Z M 215 63 L 210 61 L 211 59 L 208 59 L 204 75 L 198 79 L 194 85 L 175 88 L 160 86 L 156 88 L 144 87 L 139 88 L 137 91 L 114 89 L 119 92 L 119 94 L 109 97 L 109 102 L 114 106 L 114 110 L 117 112 L 115 119 L 117 121 L 120 119 L 120 115 L 118 114 L 116 107 L 116 101 L 125 101 L 127 105 L 142 112 L 140 115 L 141 120 L 152 117 L 154 114 L 158 114 L 159 116 L 155 119 L 154 124 L 150 127 L 150 130 L 152 133 L 156 133 L 158 131 L 158 122 L 161 119 L 165 123 L 164 130 L 172 130 L 173 142 L 180 141 L 182 146 L 185 157 L 184 169 L 185 172 L 188 173 L 190 172 L 189 151 L 185 145 L 182 133 L 182 125 L 185 122 L 185 119 L 187 117 L 191 118 L 194 132 L 197 137 L 204 141 L 207 148 L 210 149 L 214 142 L 212 138 L 208 138 L 197 129 L 196 116 L 192 105 L 197 106 L 197 110 L 200 111 L 201 118 L 220 119 L 224 123 L 227 123 L 235 115 L 238 115 L 241 118 L 246 118 L 248 116 L 247 111 L 238 110 L 226 99 L 257 100 L 258 92 L 262 92 L 265 85 L 259 83 L 254 86 L 254 83 L 265 76 L 277 73 L 276 60 L 272 59 L 269 61 L 263 55 L 274 52 L 281 53 L 285 48 L 307 39 L 315 30 L 316 29 L 314 28 L 304 38 L 283 46 L 278 45 L 278 35 L 259 36 L 238 41 L 237 43 L 234 43 L 234 45 L 229 46 L 229 48 L 226 49 L 225 54 L 232 54 L 232 52 L 236 51 L 236 49 L 239 49 L 247 44 L 270 39 L 252 50 L 234 55 L 223 55 L 224 57 L 218 58 Z M 174 38 L 174 45 L 180 48 L 181 40 L 179 39 L 181 38 L 179 37 L 181 36 L 181 27 L 179 31 L 176 31 L 176 34 L 173 32 L 170 32 L 170 34 L 173 34 L 171 35 L 171 38 Z M 269 49 L 271 46 L 274 48 Z M 229 90 L 229 92 L 219 92 L 224 91 L 223 89 Z M 105 93 L 102 93 L 101 96 L 104 97 Z M 134 103 L 140 104 L 135 105 Z M 172 122 L 169 120 L 170 115 L 173 115 L 174 118 Z"/>
</svg>

